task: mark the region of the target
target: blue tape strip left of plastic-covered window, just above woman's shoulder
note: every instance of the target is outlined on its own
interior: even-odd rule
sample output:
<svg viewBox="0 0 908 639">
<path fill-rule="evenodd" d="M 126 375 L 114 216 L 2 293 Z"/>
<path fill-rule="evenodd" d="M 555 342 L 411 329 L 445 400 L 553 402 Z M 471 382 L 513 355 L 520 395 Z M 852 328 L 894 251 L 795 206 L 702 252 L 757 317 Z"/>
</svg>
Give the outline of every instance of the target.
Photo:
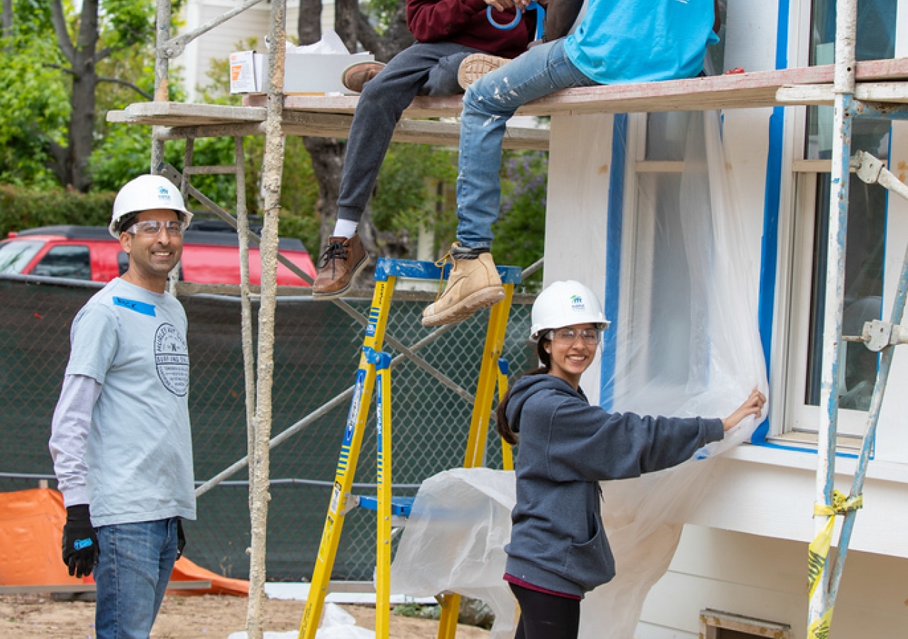
<svg viewBox="0 0 908 639">
<path fill-rule="evenodd" d="M 627 160 L 627 114 L 616 114 L 612 125 L 612 166 L 608 173 L 606 218 L 606 319 L 611 325 L 602 334 L 599 405 L 611 410 L 615 400 L 618 306 L 621 293 L 621 234 L 624 217 L 625 163 Z"/>
</svg>

